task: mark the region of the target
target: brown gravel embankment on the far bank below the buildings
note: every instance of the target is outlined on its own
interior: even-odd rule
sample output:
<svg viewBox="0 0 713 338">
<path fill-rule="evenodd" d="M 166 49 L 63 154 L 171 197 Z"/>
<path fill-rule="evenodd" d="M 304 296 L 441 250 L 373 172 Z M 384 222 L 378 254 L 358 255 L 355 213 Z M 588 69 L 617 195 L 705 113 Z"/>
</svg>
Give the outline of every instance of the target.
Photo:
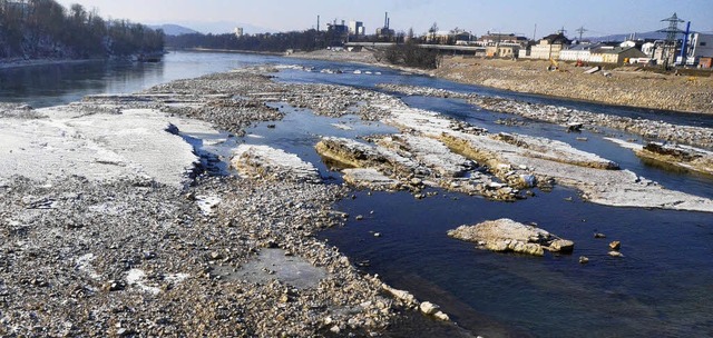
<svg viewBox="0 0 713 338">
<path fill-rule="evenodd" d="M 346 62 L 379 63 L 369 51 L 315 51 L 293 57 Z M 549 61 L 488 60 L 446 57 L 439 69 L 427 73 L 448 80 L 525 93 L 671 111 L 713 113 L 713 77 L 683 77 L 616 68 L 586 74 L 584 68 L 560 62 L 548 71 Z M 606 76 L 605 76 L 606 74 Z"/>
</svg>

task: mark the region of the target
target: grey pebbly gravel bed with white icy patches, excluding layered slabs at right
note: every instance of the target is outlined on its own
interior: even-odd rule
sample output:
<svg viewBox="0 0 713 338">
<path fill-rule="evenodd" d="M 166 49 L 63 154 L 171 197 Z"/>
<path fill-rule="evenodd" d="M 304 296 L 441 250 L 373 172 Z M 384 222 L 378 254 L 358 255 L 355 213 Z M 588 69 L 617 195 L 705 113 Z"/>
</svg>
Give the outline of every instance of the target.
<svg viewBox="0 0 713 338">
<path fill-rule="evenodd" d="M 466 335 L 314 238 L 343 222 L 331 206 L 345 187 L 306 167 L 302 179 L 290 166 L 304 163 L 264 148 L 235 166 L 272 166 L 205 175 L 206 158 L 229 159 L 201 146 L 234 138 L 216 128 L 240 136 L 281 118 L 266 102 L 385 115 L 356 105 L 373 92 L 280 84 L 271 71 L 3 106 L 0 336 L 390 336 L 414 325 Z"/>
</svg>

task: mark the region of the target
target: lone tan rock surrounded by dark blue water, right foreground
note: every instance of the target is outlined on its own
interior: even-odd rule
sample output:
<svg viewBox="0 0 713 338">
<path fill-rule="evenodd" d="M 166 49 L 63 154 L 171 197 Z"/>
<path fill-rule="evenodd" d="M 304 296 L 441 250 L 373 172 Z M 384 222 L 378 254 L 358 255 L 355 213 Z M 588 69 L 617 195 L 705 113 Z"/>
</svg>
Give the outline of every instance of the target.
<svg viewBox="0 0 713 338">
<path fill-rule="evenodd" d="M 485 221 L 475 226 L 460 226 L 448 236 L 477 242 L 496 252 L 519 252 L 544 256 L 545 250 L 569 254 L 574 242 L 558 238 L 546 230 L 526 226 L 508 218 Z"/>
</svg>

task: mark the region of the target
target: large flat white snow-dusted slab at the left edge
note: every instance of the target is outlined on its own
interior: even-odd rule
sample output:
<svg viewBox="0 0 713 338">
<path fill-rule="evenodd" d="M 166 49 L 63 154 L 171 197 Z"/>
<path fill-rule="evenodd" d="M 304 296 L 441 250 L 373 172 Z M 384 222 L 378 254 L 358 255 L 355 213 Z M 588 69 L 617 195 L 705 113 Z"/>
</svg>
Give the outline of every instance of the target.
<svg viewBox="0 0 713 338">
<path fill-rule="evenodd" d="M 87 109 L 89 115 L 75 106 L 52 107 L 37 110 L 35 119 L 0 119 L 0 176 L 41 181 L 70 175 L 91 180 L 140 177 L 183 187 L 198 158 L 168 128 L 211 130 L 205 122 L 157 110 Z"/>
</svg>

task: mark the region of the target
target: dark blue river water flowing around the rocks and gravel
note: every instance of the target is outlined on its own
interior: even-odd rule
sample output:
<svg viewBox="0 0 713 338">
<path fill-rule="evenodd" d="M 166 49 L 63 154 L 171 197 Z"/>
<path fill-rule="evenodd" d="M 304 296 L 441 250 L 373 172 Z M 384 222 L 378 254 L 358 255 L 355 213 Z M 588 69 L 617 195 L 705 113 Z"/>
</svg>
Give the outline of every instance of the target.
<svg viewBox="0 0 713 338">
<path fill-rule="evenodd" d="M 427 86 L 478 92 L 628 117 L 712 128 L 713 119 L 577 102 L 466 86 L 423 76 L 373 67 L 233 53 L 173 52 L 159 63 L 88 62 L 0 70 L 0 101 L 47 107 L 79 100 L 91 93 L 127 93 L 150 86 L 226 71 L 252 64 L 299 64 L 307 72 L 287 69 L 276 80 L 334 83 L 373 89 L 378 83 Z M 340 69 L 342 73 L 322 73 Z M 353 70 L 362 70 L 354 74 Z M 367 71 L 372 72 L 367 74 Z M 374 74 L 380 72 L 379 76 Z M 665 187 L 713 198 L 713 179 L 667 171 L 638 160 L 629 150 L 602 139 L 602 135 L 566 133 L 561 127 L 525 120 L 501 126 L 514 116 L 480 110 L 455 99 L 403 97 L 408 105 L 429 109 L 488 128 L 561 140 L 598 153 Z M 356 117 L 320 118 L 310 111 L 283 107 L 284 121 L 248 130 L 246 142 L 271 143 L 318 165 L 322 176 L 341 182 L 313 150 L 320 136 L 356 137 L 393 130 L 362 123 Z M 341 130 L 333 123 L 349 125 Z M 271 126 L 272 127 L 272 126 Z M 608 132 L 624 139 L 639 137 Z M 257 136 L 257 137 L 255 137 Z M 586 137 L 588 141 L 577 140 Z M 701 212 L 613 208 L 583 201 L 575 190 L 551 192 L 517 202 L 488 201 L 442 190 L 417 200 L 406 192 L 354 191 L 354 199 L 336 206 L 352 216 L 345 227 L 320 237 L 339 247 L 365 272 L 379 274 L 388 284 L 431 300 L 462 327 L 486 337 L 618 337 L 713 336 L 713 216 Z M 540 227 L 576 242 L 574 255 L 544 258 L 497 255 L 450 239 L 446 231 L 460 225 L 508 217 Z M 381 237 L 374 237 L 380 232 Z M 603 232 L 606 239 L 595 239 Z M 608 242 L 622 241 L 625 257 L 607 256 Z M 588 265 L 578 257 L 587 256 Z"/>
</svg>

